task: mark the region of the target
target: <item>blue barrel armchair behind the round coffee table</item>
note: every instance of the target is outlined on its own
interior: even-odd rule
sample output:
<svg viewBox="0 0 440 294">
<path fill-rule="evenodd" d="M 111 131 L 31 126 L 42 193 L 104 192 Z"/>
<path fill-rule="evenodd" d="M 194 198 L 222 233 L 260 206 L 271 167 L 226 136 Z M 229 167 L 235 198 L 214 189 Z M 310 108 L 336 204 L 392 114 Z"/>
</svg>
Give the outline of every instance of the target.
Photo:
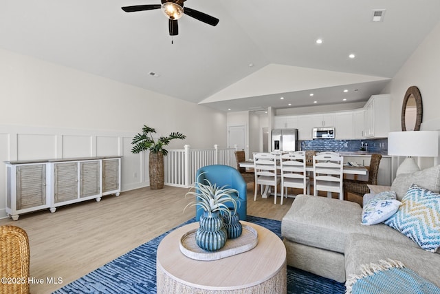
<svg viewBox="0 0 440 294">
<path fill-rule="evenodd" d="M 247 216 L 247 198 L 246 198 L 246 182 L 243 180 L 240 172 L 234 167 L 230 167 L 228 165 L 207 165 L 206 167 L 201 167 L 197 170 L 196 175 L 197 182 L 204 182 L 205 179 L 209 180 L 212 185 L 217 184 L 219 187 L 223 187 L 227 185 L 225 188 L 232 188 L 239 191 L 239 199 L 237 202 L 237 212 L 239 213 L 240 220 L 246 220 Z M 196 183 L 196 192 L 197 183 Z M 230 202 L 225 203 L 228 207 L 234 207 Z M 200 207 L 197 205 L 196 207 L 196 220 L 200 219 L 200 216 L 203 214 L 203 209 L 199 209 Z"/>
</svg>

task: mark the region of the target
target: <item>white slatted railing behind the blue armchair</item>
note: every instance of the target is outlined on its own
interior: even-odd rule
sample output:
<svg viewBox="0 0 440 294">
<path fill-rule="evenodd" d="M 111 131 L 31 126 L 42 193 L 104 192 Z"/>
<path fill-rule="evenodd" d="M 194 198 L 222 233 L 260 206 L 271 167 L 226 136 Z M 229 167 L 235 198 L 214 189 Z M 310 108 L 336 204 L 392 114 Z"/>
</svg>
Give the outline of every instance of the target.
<svg viewBox="0 0 440 294">
<path fill-rule="evenodd" d="M 164 156 L 164 185 L 190 187 L 195 182 L 197 169 L 206 165 L 229 165 L 236 167 L 234 148 L 184 149 L 168 150 Z"/>
</svg>

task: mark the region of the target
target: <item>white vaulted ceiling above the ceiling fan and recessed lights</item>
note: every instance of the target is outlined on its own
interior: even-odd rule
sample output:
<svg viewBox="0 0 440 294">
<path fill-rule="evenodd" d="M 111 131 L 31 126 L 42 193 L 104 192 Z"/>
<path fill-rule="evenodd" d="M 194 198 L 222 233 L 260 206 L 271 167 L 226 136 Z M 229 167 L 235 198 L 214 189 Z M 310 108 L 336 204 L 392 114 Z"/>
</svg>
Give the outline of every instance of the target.
<svg viewBox="0 0 440 294">
<path fill-rule="evenodd" d="M 160 10 L 121 10 L 157 3 L 1 0 L 0 48 L 239 111 L 366 101 L 440 21 L 439 0 L 188 0 L 219 24 L 171 37 Z"/>
</svg>

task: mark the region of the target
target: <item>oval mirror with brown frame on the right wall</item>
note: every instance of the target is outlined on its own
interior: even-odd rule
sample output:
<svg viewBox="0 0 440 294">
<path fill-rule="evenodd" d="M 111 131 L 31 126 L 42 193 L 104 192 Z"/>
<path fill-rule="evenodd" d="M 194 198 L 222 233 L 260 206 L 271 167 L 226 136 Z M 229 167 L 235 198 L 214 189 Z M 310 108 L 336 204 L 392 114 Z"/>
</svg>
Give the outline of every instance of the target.
<svg viewBox="0 0 440 294">
<path fill-rule="evenodd" d="M 401 106 L 401 130 L 419 131 L 423 113 L 419 88 L 411 86 L 406 90 Z"/>
</svg>

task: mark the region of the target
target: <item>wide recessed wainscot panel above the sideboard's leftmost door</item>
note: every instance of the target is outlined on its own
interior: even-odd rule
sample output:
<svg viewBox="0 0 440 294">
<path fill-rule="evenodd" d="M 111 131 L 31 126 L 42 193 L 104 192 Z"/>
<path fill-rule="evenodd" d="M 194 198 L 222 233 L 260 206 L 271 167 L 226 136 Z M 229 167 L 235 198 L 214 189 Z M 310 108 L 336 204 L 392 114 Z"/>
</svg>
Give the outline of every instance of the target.
<svg viewBox="0 0 440 294">
<path fill-rule="evenodd" d="M 54 134 L 17 134 L 17 160 L 56 157 Z"/>
</svg>

